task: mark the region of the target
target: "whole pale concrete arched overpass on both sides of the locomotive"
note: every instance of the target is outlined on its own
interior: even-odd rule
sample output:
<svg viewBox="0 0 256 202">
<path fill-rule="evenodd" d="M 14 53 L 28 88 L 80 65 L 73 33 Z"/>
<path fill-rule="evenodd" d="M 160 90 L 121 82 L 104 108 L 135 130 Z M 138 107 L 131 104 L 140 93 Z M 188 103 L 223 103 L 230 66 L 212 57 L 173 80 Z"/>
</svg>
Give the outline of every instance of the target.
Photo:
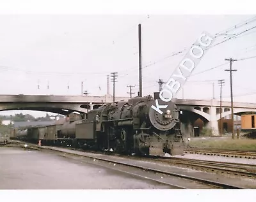
<svg viewBox="0 0 256 202">
<path fill-rule="evenodd" d="M 129 97 L 115 97 L 116 101 L 127 101 Z M 38 110 L 67 115 L 71 112 L 87 113 L 87 110 L 98 108 L 104 103 L 111 103 L 113 96 L 35 96 L 35 95 L 0 95 L 1 110 Z M 195 120 L 202 119 L 207 127 L 218 133 L 220 119 L 220 101 L 173 99 L 182 110 L 182 122 L 193 127 Z M 234 103 L 234 114 L 241 115 L 256 112 L 256 103 Z M 222 102 L 221 117 L 231 114 L 231 103 Z"/>
</svg>

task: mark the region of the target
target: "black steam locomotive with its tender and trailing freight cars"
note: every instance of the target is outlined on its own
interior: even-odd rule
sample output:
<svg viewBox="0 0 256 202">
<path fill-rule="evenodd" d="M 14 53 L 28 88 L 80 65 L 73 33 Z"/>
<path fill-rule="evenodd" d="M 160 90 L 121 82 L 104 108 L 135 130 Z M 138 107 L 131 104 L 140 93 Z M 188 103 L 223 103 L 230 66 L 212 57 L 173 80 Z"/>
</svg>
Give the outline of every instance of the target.
<svg viewBox="0 0 256 202">
<path fill-rule="evenodd" d="M 168 104 L 160 115 L 151 108 L 152 96 L 109 103 L 88 112 L 87 119 L 69 117 L 64 124 L 30 127 L 27 140 L 125 154 L 180 155 L 184 141 L 179 110 L 174 103 Z"/>
</svg>

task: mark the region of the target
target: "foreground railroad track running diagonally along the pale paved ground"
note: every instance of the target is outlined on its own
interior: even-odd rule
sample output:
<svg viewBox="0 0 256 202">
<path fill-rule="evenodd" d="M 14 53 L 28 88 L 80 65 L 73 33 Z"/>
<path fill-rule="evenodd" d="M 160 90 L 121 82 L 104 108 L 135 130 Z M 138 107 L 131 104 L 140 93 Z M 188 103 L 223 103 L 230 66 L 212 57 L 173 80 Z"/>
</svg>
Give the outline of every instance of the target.
<svg viewBox="0 0 256 202">
<path fill-rule="evenodd" d="M 24 147 L 24 143 L 15 143 L 20 147 Z M 80 152 L 77 150 L 67 150 L 67 148 L 54 148 L 54 147 L 37 147 L 37 145 L 28 144 L 31 149 L 42 150 L 49 152 L 51 150 L 54 154 L 62 157 L 77 159 L 78 161 L 87 162 L 90 164 L 97 164 L 104 168 L 110 168 L 115 171 L 120 171 L 134 177 L 140 177 L 145 180 L 151 180 L 159 184 L 168 185 L 172 189 L 248 189 L 239 185 L 231 185 L 227 183 L 217 182 L 200 177 L 193 177 L 189 175 L 180 174 L 170 171 L 171 169 L 163 169 L 161 166 L 152 166 L 142 164 L 141 159 L 134 157 L 116 157 L 116 155 L 103 155 L 88 152 Z M 134 159 L 133 159 L 134 158 Z M 173 159 L 148 159 L 150 161 L 161 161 L 173 163 Z M 184 160 L 184 159 L 182 159 Z M 175 164 L 179 164 L 181 159 L 175 159 Z M 186 159 L 187 160 L 187 159 Z M 143 159 L 145 161 L 145 159 Z M 195 161 L 197 162 L 197 161 Z M 180 162 L 181 163 L 181 162 Z M 192 163 L 192 161 L 191 161 Z M 195 165 L 194 165 L 195 166 Z M 202 166 L 202 165 L 201 165 Z M 166 168 L 166 166 L 165 166 Z M 173 182 L 175 182 L 173 184 Z"/>
</svg>

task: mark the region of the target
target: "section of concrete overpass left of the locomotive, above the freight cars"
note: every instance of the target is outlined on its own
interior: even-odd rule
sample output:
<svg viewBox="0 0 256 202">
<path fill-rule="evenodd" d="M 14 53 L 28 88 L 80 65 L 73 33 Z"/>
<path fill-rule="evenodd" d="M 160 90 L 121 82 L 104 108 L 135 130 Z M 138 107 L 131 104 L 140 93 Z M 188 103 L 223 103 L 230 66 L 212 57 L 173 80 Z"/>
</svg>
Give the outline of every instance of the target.
<svg viewBox="0 0 256 202">
<path fill-rule="evenodd" d="M 115 97 L 115 101 L 128 100 L 128 97 Z M 71 112 L 87 113 L 87 110 L 111 103 L 113 96 L 35 96 L 0 95 L 0 111 L 35 110 L 67 115 Z"/>
</svg>

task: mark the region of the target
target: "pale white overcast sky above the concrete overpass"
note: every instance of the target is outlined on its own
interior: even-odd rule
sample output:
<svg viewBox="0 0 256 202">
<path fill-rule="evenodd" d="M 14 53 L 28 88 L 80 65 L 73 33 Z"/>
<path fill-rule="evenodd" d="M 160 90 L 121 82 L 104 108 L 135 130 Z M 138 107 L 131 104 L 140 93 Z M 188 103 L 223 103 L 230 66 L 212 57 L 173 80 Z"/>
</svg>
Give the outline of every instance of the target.
<svg viewBox="0 0 256 202">
<path fill-rule="evenodd" d="M 157 80 L 170 78 L 203 31 L 214 36 L 255 16 L 0 15 L 0 93 L 80 95 L 84 82 L 84 90 L 100 96 L 107 93 L 107 75 L 116 71 L 116 96 L 129 96 L 127 85 L 139 84 L 138 24 L 141 24 L 143 96 L 153 94 L 159 89 Z M 214 44 L 256 26 L 256 18 L 249 22 L 216 38 Z M 171 56 L 180 51 L 183 52 Z M 230 75 L 225 71 L 229 64 L 214 67 L 226 63 L 228 57 L 253 56 L 256 56 L 256 28 L 212 47 L 186 82 L 184 98 L 220 99 L 218 80 L 224 79 L 223 99 L 230 101 Z M 234 62 L 233 68 L 237 69 L 233 73 L 234 101 L 256 103 L 255 63 L 256 58 Z M 214 69 L 205 71 L 211 68 Z M 113 94 L 112 82 L 109 89 Z M 133 92 L 138 92 L 138 86 Z M 177 97 L 182 98 L 182 90 Z"/>
</svg>

